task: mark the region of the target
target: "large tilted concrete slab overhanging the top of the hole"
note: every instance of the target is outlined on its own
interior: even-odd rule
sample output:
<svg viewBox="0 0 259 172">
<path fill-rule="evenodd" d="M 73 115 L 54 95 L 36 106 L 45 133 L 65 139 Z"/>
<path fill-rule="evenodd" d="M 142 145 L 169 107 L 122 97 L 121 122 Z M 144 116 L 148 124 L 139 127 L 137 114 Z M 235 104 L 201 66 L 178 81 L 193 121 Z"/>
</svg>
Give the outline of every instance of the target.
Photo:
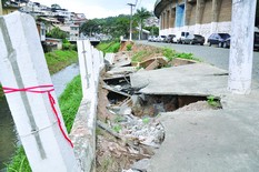
<svg viewBox="0 0 259 172">
<path fill-rule="evenodd" d="M 195 63 L 130 75 L 131 85 L 146 94 L 220 97 L 227 92 L 227 71 L 205 63 Z"/>
</svg>

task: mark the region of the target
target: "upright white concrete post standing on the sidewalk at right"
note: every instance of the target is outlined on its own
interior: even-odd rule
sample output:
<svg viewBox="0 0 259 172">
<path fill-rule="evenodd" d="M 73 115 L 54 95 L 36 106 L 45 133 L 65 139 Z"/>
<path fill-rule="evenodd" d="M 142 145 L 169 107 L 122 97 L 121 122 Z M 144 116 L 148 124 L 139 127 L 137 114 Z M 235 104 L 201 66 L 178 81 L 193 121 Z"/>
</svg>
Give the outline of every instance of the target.
<svg viewBox="0 0 259 172">
<path fill-rule="evenodd" d="M 247 94 L 251 90 L 256 0 L 232 1 L 229 85 L 232 93 Z"/>
</svg>

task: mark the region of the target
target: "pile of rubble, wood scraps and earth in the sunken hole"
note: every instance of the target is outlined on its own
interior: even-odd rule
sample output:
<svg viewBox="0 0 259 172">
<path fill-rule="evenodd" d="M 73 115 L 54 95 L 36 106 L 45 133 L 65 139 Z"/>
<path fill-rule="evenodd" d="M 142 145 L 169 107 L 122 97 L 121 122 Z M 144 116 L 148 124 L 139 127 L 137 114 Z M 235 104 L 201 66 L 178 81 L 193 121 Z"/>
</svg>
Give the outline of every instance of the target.
<svg viewBox="0 0 259 172">
<path fill-rule="evenodd" d="M 97 171 L 146 172 L 149 159 L 165 140 L 159 122 L 161 112 L 210 109 L 206 97 L 142 94 L 131 88 L 130 74 L 171 63 L 163 57 L 131 67 L 132 52 L 108 54 L 108 71 L 99 88 L 97 129 Z M 192 63 L 182 60 L 183 64 Z M 176 64 L 181 64 L 176 60 Z"/>
</svg>

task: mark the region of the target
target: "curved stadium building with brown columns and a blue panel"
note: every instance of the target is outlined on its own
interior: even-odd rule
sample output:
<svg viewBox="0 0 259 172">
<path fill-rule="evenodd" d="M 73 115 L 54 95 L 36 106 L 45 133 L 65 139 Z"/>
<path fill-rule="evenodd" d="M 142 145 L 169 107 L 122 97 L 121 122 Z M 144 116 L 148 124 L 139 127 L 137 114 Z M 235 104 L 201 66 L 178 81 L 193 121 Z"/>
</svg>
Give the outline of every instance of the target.
<svg viewBox="0 0 259 172">
<path fill-rule="evenodd" d="M 232 0 L 157 0 L 155 14 L 160 21 L 160 34 L 177 31 L 201 34 L 231 32 Z"/>
</svg>

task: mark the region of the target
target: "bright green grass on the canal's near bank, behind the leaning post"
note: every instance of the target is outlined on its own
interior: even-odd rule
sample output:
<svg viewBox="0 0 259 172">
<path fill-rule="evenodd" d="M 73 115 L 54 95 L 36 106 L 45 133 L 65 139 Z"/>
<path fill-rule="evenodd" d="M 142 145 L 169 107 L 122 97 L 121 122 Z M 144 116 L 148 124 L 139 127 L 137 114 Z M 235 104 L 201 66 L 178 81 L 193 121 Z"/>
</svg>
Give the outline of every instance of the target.
<svg viewBox="0 0 259 172">
<path fill-rule="evenodd" d="M 60 110 L 68 132 L 71 131 L 73 120 L 82 99 L 81 79 L 76 77 L 59 98 Z M 28 159 L 22 146 L 17 149 L 8 172 L 31 172 Z"/>
</svg>

